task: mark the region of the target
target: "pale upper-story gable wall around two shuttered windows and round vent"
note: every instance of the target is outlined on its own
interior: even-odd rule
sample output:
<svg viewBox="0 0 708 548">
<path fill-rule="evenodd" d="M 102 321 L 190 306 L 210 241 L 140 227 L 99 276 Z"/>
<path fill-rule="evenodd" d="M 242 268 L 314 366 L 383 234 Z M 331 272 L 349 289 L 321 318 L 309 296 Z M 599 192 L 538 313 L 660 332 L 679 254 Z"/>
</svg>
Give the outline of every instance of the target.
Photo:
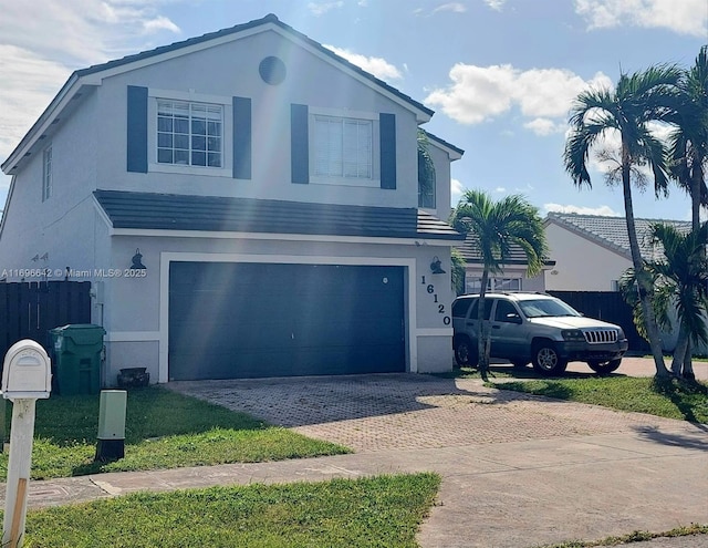
<svg viewBox="0 0 708 548">
<path fill-rule="evenodd" d="M 280 56 L 288 75 L 280 85 L 266 84 L 259 75 L 260 61 L 267 55 Z M 148 174 L 126 170 L 127 86 L 145 86 L 148 100 L 148 164 L 155 162 L 154 95 L 163 91 L 177 97 L 217 100 L 225 104 L 225 164 L 222 176 L 202 175 L 209 169 L 192 168 L 190 174 Z M 98 90 L 101 121 L 98 144 L 98 187 L 135 192 L 159 192 L 253 198 L 278 198 L 298 201 L 417 206 L 417 148 L 415 115 L 394 101 L 355 81 L 337 68 L 293 45 L 275 32 L 266 32 L 236 42 L 190 53 L 144 69 L 105 79 Z M 231 174 L 232 97 L 251 100 L 252 175 L 235 179 Z M 308 185 L 291 182 L 291 104 L 327 108 L 334 114 L 358 112 L 375 116 L 396 115 L 397 189 L 366 188 L 353 182 Z M 312 131 L 312 125 L 311 125 Z M 378 144 L 374 143 L 374 169 L 378 172 Z M 164 167 L 164 166 L 158 166 Z M 173 166 L 170 166 L 173 167 Z M 167 169 L 169 172 L 169 169 Z M 212 172 L 214 173 L 214 172 Z"/>
</svg>

